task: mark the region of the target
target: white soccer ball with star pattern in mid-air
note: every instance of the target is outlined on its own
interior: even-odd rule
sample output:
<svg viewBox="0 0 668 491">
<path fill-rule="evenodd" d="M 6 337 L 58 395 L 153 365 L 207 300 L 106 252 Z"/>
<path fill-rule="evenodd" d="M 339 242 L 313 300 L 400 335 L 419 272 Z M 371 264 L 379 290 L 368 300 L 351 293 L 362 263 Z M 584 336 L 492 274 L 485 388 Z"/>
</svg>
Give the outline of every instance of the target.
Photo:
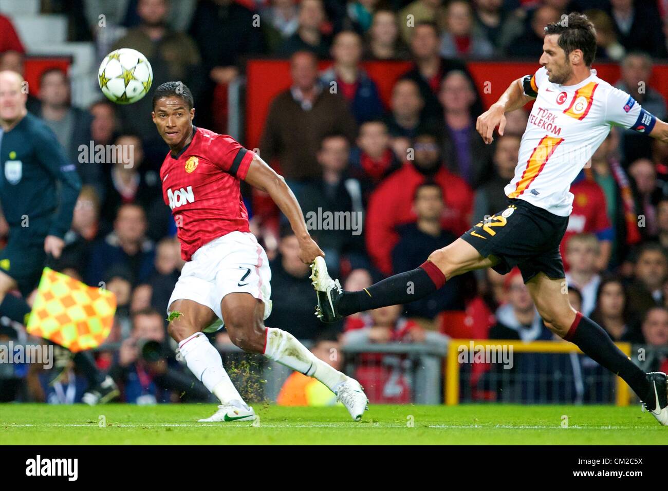
<svg viewBox="0 0 668 491">
<path fill-rule="evenodd" d="M 104 57 L 98 70 L 102 94 L 116 104 L 137 102 L 151 88 L 153 70 L 146 56 L 122 47 Z"/>
</svg>

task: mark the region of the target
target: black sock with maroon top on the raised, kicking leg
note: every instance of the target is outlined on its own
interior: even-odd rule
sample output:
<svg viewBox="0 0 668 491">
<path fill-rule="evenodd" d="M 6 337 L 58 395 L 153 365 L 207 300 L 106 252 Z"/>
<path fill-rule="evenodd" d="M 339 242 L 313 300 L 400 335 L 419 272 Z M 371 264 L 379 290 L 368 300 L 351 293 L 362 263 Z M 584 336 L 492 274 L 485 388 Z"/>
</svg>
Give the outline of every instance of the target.
<svg viewBox="0 0 668 491">
<path fill-rule="evenodd" d="M 446 283 L 446 277 L 434 265 L 426 262 L 412 271 L 385 278 L 361 291 L 343 293 L 337 304 L 337 312 L 351 315 L 387 305 L 403 305 L 420 300 Z"/>
</svg>

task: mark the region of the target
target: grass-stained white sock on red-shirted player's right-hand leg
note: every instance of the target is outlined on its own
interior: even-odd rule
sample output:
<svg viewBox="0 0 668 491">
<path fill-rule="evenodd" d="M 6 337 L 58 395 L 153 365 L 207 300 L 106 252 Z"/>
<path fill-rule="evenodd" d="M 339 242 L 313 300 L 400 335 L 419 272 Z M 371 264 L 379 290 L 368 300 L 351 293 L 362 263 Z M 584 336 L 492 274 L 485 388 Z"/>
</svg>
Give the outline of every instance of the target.
<svg viewBox="0 0 668 491">
<path fill-rule="evenodd" d="M 318 379 L 333 392 L 348 377 L 316 357 L 291 333 L 267 327 L 265 356 L 309 377 Z"/>
</svg>

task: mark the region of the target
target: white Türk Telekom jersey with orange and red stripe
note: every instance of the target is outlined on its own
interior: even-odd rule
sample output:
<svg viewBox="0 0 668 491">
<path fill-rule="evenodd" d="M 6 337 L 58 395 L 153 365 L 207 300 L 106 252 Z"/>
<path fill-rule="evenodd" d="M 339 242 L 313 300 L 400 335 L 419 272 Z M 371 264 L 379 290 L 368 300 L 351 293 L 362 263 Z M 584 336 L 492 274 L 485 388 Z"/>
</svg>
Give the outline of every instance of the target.
<svg viewBox="0 0 668 491">
<path fill-rule="evenodd" d="M 649 133 L 655 122 L 629 94 L 597 77 L 595 69 L 579 84 L 561 86 L 552 84 L 541 67 L 524 77 L 524 93 L 536 101 L 515 175 L 504 192 L 559 216 L 570 214 L 570 183 L 612 126 Z"/>
</svg>

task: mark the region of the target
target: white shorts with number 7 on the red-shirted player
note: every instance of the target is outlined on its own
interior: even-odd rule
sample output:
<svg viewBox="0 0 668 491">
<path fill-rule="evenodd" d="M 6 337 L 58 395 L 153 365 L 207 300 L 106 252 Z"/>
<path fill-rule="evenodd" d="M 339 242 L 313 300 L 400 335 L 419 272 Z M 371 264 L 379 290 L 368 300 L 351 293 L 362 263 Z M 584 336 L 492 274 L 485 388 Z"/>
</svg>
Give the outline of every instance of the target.
<svg viewBox="0 0 668 491">
<path fill-rule="evenodd" d="M 169 306 L 176 300 L 192 300 L 216 313 L 218 320 L 204 332 L 224 325 L 220 301 L 228 293 L 250 293 L 265 303 L 265 319 L 271 314 L 271 269 L 267 253 L 251 232 L 230 232 L 218 237 L 192 255 L 181 270 Z"/>
</svg>

